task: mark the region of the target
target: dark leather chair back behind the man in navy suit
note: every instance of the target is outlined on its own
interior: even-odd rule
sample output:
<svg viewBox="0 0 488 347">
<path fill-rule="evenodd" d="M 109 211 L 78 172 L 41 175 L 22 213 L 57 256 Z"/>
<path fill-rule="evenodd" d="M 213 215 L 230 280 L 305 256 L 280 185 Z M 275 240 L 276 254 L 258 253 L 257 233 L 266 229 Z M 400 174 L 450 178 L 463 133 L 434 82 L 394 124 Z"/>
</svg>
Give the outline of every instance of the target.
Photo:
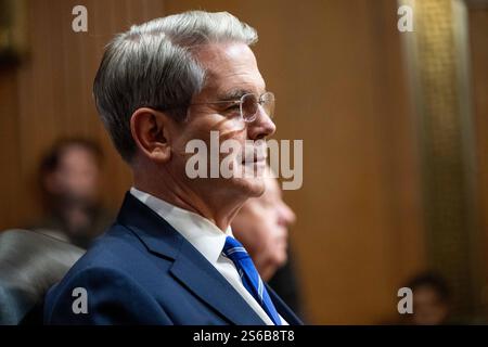
<svg viewBox="0 0 488 347">
<path fill-rule="evenodd" d="M 27 230 L 0 233 L 0 325 L 41 324 L 47 291 L 84 249 Z"/>
</svg>

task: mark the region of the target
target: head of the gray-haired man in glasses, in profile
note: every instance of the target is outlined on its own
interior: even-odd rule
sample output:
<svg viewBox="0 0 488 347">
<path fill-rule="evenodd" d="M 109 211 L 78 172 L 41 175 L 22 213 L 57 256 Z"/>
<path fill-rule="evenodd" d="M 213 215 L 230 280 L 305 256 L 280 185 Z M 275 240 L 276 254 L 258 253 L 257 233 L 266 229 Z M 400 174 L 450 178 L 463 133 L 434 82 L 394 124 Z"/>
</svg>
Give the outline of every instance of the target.
<svg viewBox="0 0 488 347">
<path fill-rule="evenodd" d="M 252 165 L 264 166 L 265 147 L 246 149 L 244 143 L 274 132 L 269 115 L 261 107 L 254 121 L 245 123 L 235 106 L 222 102 L 266 91 L 249 49 L 256 41 L 255 29 L 229 13 L 193 11 L 132 26 L 108 44 L 93 93 L 136 182 L 158 184 L 163 192 L 205 201 L 219 206 L 217 210 L 236 210 L 236 201 L 240 206 L 262 193 L 261 177 L 190 179 L 185 170 L 191 156 L 187 144 L 202 140 L 209 149 L 210 131 L 218 131 L 220 142 L 242 144 L 234 165 L 242 165 L 239 158 L 252 152 Z"/>
</svg>

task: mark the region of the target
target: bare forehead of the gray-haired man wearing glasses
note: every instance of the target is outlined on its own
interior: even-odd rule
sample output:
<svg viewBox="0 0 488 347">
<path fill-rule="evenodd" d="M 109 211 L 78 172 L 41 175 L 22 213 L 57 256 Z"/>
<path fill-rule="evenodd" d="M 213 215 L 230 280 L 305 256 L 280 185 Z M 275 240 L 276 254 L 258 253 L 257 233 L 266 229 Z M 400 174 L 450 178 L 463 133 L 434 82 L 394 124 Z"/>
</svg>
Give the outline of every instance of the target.
<svg viewBox="0 0 488 347">
<path fill-rule="evenodd" d="M 266 90 L 253 51 L 244 43 L 206 44 L 196 52 L 206 69 L 202 93 L 224 97 L 236 91 L 260 94 Z"/>
</svg>

